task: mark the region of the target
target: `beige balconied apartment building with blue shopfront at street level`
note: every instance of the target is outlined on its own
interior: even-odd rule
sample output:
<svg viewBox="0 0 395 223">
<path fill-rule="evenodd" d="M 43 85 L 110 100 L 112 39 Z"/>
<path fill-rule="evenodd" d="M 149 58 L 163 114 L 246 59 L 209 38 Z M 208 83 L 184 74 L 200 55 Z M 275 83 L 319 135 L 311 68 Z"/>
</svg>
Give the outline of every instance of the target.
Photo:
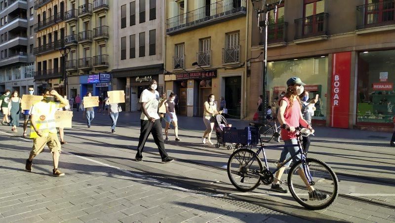
<svg viewBox="0 0 395 223">
<path fill-rule="evenodd" d="M 90 91 L 104 98 L 112 90 L 116 3 L 116 0 L 67 0 L 65 46 L 71 49 L 66 72 L 72 97 Z"/>
</svg>

